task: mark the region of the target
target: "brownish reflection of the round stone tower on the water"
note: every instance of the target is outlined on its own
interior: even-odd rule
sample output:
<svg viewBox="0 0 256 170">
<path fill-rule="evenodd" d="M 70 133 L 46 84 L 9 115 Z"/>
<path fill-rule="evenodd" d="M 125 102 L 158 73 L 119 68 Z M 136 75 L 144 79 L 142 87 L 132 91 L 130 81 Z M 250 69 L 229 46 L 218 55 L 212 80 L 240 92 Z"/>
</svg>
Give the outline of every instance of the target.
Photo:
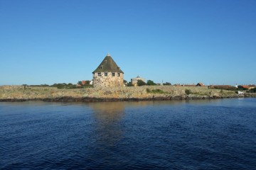
<svg viewBox="0 0 256 170">
<path fill-rule="evenodd" d="M 95 116 L 95 135 L 99 147 L 114 146 L 122 139 L 123 128 L 119 123 L 124 116 L 124 102 L 91 103 Z"/>
</svg>

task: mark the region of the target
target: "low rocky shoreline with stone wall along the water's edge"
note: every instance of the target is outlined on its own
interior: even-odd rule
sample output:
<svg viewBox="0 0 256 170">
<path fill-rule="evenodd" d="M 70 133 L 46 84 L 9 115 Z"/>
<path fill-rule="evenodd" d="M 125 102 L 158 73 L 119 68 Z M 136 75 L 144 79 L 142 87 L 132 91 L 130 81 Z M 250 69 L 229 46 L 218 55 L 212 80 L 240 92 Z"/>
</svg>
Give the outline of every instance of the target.
<svg viewBox="0 0 256 170">
<path fill-rule="evenodd" d="M 216 98 L 256 97 L 256 94 L 238 95 L 235 91 L 208 89 L 200 86 L 137 86 L 87 89 L 57 89 L 55 87 L 0 86 L 1 102 L 54 101 L 169 101 L 203 100 Z"/>
</svg>

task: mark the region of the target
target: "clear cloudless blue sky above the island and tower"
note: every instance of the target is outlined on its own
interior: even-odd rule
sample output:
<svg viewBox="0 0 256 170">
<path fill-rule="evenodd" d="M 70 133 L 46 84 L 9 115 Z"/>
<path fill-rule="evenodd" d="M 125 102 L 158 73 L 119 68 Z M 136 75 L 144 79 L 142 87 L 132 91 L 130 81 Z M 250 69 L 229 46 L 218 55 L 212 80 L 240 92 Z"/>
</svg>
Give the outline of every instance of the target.
<svg viewBox="0 0 256 170">
<path fill-rule="evenodd" d="M 128 81 L 256 84 L 256 1 L 0 0 L 0 85 L 92 79 L 108 52 Z"/>
</svg>

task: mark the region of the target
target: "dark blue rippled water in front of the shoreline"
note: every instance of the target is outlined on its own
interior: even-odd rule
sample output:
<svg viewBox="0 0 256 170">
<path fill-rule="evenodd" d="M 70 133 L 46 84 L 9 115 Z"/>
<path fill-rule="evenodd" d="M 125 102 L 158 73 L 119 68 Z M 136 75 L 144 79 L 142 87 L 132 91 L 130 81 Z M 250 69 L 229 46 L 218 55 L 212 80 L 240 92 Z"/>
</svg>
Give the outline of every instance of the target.
<svg viewBox="0 0 256 170">
<path fill-rule="evenodd" d="M 256 98 L 0 103 L 0 169 L 256 169 Z"/>
</svg>

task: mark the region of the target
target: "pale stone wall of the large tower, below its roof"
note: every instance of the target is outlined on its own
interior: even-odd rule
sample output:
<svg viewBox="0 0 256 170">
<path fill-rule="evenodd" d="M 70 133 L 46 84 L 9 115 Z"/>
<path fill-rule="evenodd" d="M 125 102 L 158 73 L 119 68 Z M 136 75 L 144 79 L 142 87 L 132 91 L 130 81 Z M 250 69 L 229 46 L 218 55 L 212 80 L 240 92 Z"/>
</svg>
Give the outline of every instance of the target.
<svg viewBox="0 0 256 170">
<path fill-rule="evenodd" d="M 93 75 L 93 87 L 98 86 L 124 86 L 124 74 L 118 72 L 96 72 Z"/>
</svg>

